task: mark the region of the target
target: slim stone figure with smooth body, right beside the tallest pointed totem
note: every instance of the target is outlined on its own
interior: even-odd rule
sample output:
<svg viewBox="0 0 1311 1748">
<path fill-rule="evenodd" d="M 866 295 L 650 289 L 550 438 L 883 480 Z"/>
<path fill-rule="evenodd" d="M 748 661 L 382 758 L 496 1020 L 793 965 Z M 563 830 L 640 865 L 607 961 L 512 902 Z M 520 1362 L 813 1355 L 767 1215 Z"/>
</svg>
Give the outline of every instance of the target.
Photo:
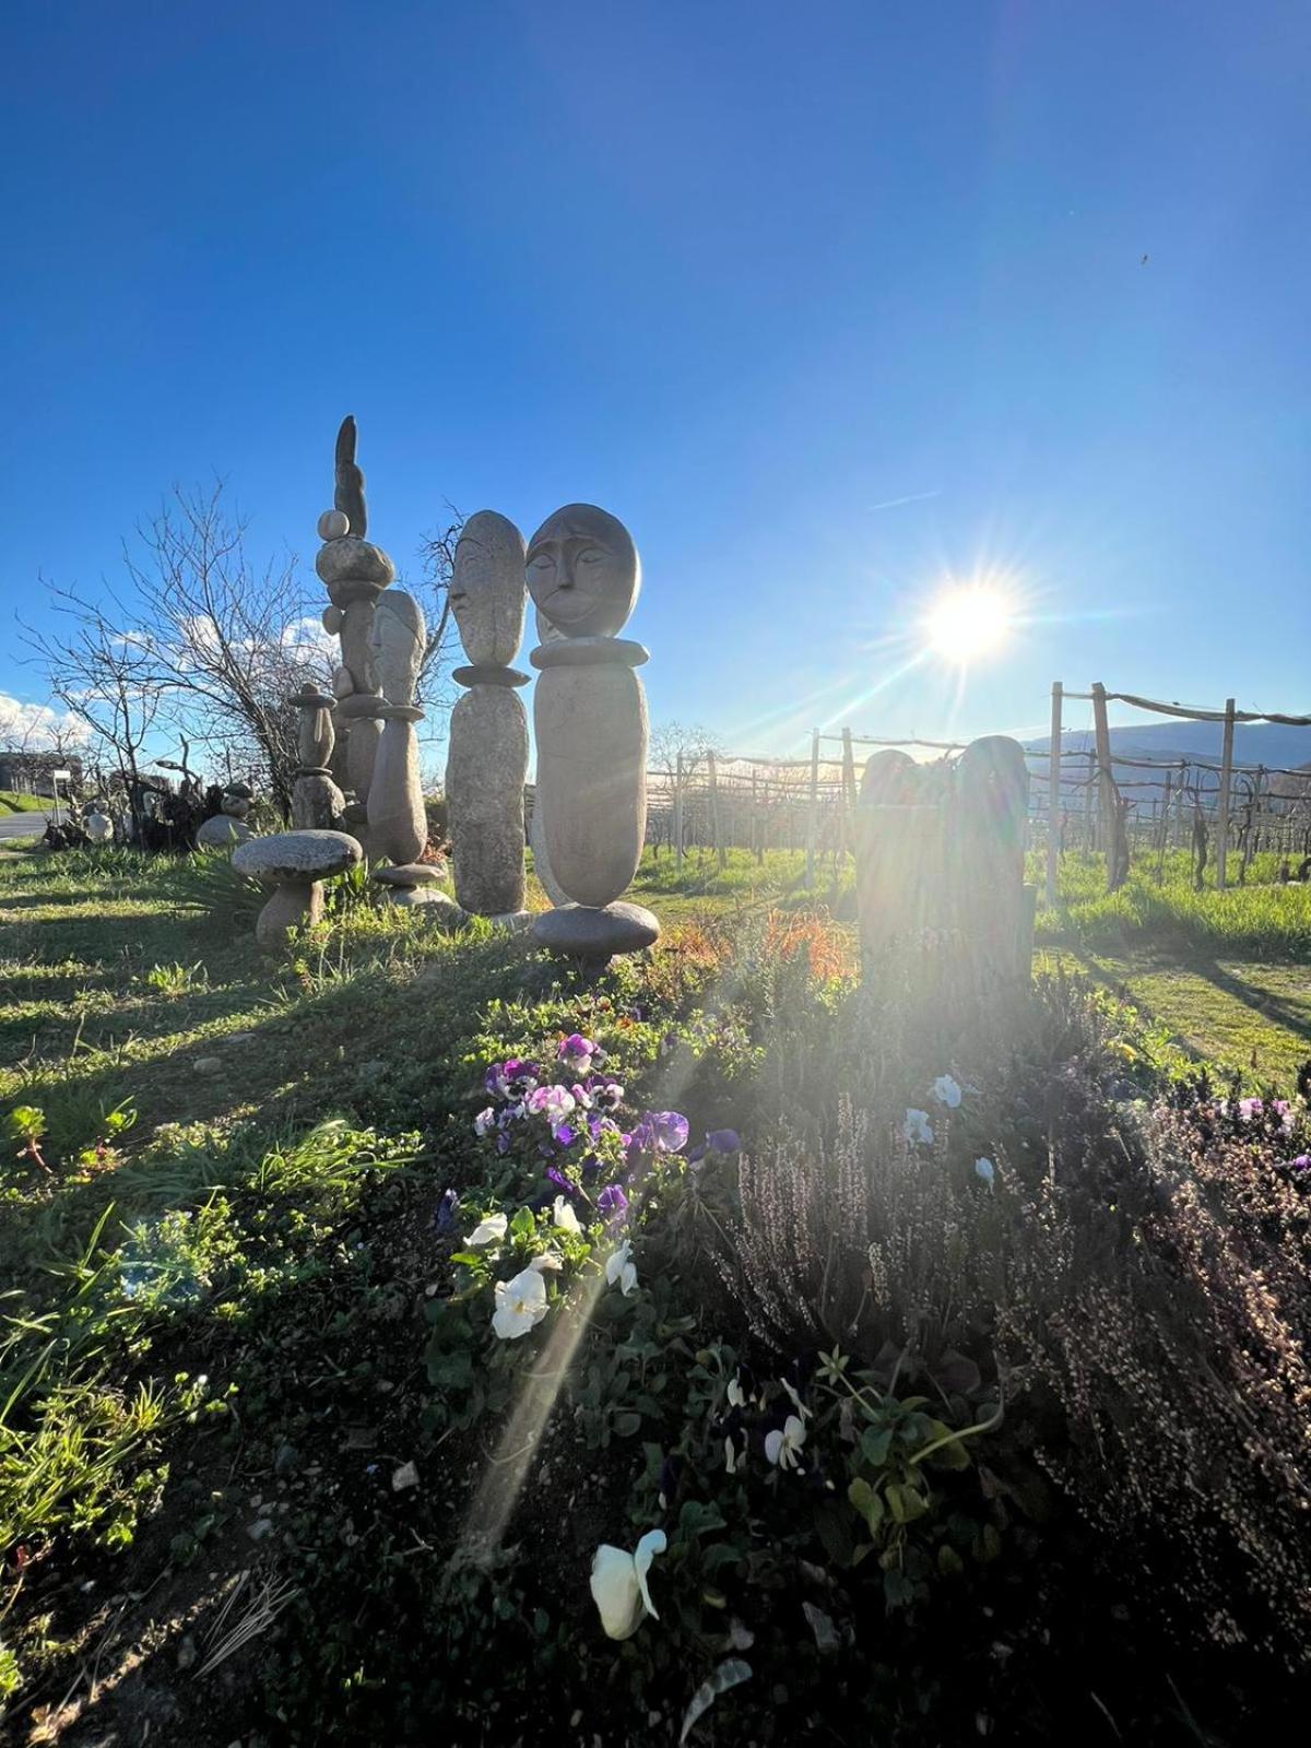
<svg viewBox="0 0 1311 1748">
<path fill-rule="evenodd" d="M 369 633 L 372 673 L 383 694 L 372 713 L 383 732 L 369 780 L 367 816 L 369 853 L 395 864 L 418 862 L 428 843 L 414 734 L 414 724 L 423 720 L 414 703 L 423 647 L 420 603 L 402 589 L 388 591 L 378 601 Z"/>
</svg>

